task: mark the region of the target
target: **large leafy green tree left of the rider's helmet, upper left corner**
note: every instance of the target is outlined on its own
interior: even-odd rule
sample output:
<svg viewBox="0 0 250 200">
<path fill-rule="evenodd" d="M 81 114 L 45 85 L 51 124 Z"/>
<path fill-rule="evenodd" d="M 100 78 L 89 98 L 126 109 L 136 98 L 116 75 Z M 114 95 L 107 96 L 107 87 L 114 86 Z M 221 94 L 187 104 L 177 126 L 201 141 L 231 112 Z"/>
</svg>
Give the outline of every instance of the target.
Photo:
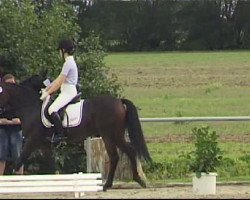
<svg viewBox="0 0 250 200">
<path fill-rule="evenodd" d="M 79 31 L 68 4 L 54 1 L 38 14 L 39 5 L 30 0 L 3 0 L 0 5 L 0 53 L 9 58 L 18 77 L 44 67 L 54 72 L 60 63 L 58 40 Z"/>
</svg>

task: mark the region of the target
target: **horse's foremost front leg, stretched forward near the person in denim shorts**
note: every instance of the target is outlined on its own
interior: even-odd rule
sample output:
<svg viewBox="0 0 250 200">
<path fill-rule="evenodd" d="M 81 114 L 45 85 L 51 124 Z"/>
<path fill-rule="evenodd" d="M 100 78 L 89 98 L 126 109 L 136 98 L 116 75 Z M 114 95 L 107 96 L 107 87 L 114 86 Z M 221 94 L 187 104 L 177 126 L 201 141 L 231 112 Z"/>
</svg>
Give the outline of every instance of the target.
<svg viewBox="0 0 250 200">
<path fill-rule="evenodd" d="M 15 171 L 19 171 L 21 166 L 27 161 L 31 153 L 35 150 L 35 147 L 36 147 L 36 144 L 34 143 L 34 140 L 31 140 L 31 138 L 28 138 L 25 141 L 21 155 L 16 160 Z"/>
</svg>

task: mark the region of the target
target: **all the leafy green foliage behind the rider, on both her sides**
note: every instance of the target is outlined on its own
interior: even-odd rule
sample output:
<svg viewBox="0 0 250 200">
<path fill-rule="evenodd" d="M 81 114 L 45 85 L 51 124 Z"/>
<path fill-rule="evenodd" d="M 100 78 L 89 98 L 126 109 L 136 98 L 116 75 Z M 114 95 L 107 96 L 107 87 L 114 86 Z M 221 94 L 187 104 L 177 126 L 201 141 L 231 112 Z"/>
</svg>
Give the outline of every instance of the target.
<svg viewBox="0 0 250 200">
<path fill-rule="evenodd" d="M 4 72 L 24 79 L 47 68 L 50 78 L 55 78 L 64 62 L 59 57 L 58 42 L 69 37 L 75 40 L 78 47 L 76 61 L 83 97 L 107 93 L 119 96 L 122 88 L 103 62 L 105 52 L 98 35 L 91 33 L 80 39 L 80 27 L 76 21 L 75 7 L 67 1 L 2 0 L 0 55 L 4 60 L 1 62 Z M 70 153 L 79 150 L 75 148 L 70 148 Z M 60 152 L 60 149 L 57 150 Z M 68 159 L 66 152 L 60 155 Z M 65 167 L 64 172 L 67 172 Z"/>
</svg>

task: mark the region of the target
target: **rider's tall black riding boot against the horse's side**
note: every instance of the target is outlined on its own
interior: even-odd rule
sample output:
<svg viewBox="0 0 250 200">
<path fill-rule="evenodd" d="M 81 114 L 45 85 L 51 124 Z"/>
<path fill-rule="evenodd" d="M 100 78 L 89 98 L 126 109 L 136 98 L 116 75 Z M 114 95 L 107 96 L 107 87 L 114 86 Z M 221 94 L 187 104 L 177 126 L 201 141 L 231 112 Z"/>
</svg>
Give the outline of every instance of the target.
<svg viewBox="0 0 250 200">
<path fill-rule="evenodd" d="M 51 142 L 59 143 L 65 137 L 62 127 L 62 121 L 57 112 L 53 112 L 50 116 L 55 128 L 55 134 L 53 135 Z"/>
</svg>

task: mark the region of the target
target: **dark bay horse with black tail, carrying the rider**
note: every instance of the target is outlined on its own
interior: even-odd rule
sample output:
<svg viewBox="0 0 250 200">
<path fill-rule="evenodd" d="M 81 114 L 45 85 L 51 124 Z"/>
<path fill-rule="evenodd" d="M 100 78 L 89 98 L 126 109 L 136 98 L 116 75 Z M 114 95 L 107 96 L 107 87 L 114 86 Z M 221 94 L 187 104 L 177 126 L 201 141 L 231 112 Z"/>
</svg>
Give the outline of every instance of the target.
<svg viewBox="0 0 250 200">
<path fill-rule="evenodd" d="M 42 146 L 47 148 L 53 129 L 46 128 L 41 121 L 42 101 L 40 94 L 22 85 L 0 83 L 0 106 L 15 110 L 20 118 L 26 138 L 23 151 L 16 163 L 18 170 L 30 154 Z M 125 105 L 125 106 L 124 106 Z M 133 180 L 146 187 L 137 171 L 136 157 L 151 162 L 143 136 L 135 105 L 128 99 L 118 99 L 109 95 L 97 96 L 84 101 L 83 119 L 80 125 L 67 128 L 68 142 L 80 143 L 89 136 L 102 137 L 107 150 L 110 166 L 107 181 L 103 188 L 112 187 L 116 166 L 119 160 L 117 148 L 126 153 L 131 162 Z M 130 142 L 125 140 L 128 130 Z"/>
</svg>

